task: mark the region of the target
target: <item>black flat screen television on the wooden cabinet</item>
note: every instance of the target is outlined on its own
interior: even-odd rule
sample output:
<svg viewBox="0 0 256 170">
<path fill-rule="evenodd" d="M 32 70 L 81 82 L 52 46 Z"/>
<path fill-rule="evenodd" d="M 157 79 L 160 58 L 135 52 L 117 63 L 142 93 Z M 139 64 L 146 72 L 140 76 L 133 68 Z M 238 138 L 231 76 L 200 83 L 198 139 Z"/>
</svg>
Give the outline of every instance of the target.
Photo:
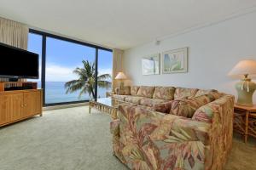
<svg viewBox="0 0 256 170">
<path fill-rule="evenodd" d="M 38 59 L 38 54 L 0 43 L 0 77 L 38 79 Z"/>
</svg>

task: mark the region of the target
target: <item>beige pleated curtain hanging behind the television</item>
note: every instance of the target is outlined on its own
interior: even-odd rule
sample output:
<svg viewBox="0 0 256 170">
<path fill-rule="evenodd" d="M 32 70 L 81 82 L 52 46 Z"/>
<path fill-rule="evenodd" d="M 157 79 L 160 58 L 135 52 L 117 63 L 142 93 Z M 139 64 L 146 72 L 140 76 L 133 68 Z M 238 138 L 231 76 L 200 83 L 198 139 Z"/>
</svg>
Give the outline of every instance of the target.
<svg viewBox="0 0 256 170">
<path fill-rule="evenodd" d="M 0 42 L 16 48 L 27 49 L 28 26 L 0 17 Z M 0 82 L 8 79 L 0 78 Z"/>
</svg>

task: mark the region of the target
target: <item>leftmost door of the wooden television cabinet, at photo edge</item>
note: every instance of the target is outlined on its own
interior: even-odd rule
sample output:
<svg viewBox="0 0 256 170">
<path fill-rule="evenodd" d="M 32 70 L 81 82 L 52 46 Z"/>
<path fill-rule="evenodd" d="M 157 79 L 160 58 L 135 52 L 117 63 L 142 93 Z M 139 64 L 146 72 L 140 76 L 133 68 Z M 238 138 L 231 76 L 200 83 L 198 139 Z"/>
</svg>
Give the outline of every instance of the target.
<svg viewBox="0 0 256 170">
<path fill-rule="evenodd" d="M 0 125 L 10 122 L 9 95 L 0 95 Z"/>
</svg>

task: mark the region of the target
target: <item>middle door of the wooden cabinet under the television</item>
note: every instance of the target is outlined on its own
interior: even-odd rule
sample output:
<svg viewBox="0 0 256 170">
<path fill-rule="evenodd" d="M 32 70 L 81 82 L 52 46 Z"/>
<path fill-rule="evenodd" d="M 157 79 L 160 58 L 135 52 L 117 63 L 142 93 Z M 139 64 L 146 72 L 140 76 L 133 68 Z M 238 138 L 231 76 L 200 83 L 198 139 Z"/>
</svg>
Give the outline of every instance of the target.
<svg viewBox="0 0 256 170">
<path fill-rule="evenodd" d="M 11 121 L 23 117 L 23 93 L 6 94 L 9 96 L 9 113 Z"/>
</svg>

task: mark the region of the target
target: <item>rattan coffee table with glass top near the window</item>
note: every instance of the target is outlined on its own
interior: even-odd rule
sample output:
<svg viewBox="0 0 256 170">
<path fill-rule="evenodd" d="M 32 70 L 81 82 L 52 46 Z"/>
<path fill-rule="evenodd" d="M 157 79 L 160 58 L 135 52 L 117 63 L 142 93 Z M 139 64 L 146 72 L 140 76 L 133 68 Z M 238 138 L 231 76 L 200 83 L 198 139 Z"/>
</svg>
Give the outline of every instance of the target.
<svg viewBox="0 0 256 170">
<path fill-rule="evenodd" d="M 89 102 L 89 113 L 91 109 L 96 109 L 97 111 L 102 111 L 103 113 L 107 113 L 110 115 L 113 120 L 117 119 L 117 112 L 120 101 L 112 98 L 100 98 L 96 101 Z"/>
</svg>

